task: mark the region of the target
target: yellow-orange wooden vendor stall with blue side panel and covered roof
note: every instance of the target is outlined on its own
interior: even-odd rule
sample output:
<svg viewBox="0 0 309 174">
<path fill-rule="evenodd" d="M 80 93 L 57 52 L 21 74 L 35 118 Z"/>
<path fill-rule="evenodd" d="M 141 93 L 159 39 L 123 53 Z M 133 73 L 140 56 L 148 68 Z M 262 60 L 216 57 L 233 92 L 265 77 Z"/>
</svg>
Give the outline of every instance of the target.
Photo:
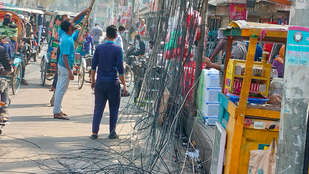
<svg viewBox="0 0 309 174">
<path fill-rule="evenodd" d="M 231 28 L 223 31 L 223 35 L 227 37 L 227 46 L 223 88 L 218 96 L 220 102 L 218 122 L 226 131 L 223 171 L 224 174 L 247 174 L 250 173 L 248 170 L 250 150 L 265 150 L 273 139 L 278 140 L 281 109 L 265 105 L 268 100 L 271 64 L 254 62 L 256 43 L 262 41 L 286 44 L 287 28 L 281 25 L 241 24 L 234 21 L 230 25 Z M 249 40 L 246 60 L 230 59 L 233 40 Z M 237 86 L 240 87 L 239 95 L 234 93 Z M 248 97 L 252 93 L 266 98 Z M 218 147 L 216 142 L 219 142 Z M 219 139 L 215 140 L 214 157 L 222 151 L 219 145 Z M 223 164 L 220 163 L 224 160 L 223 154 L 221 157 L 213 159 L 211 169 L 213 174 L 219 171 L 218 164 L 221 166 Z"/>
</svg>

